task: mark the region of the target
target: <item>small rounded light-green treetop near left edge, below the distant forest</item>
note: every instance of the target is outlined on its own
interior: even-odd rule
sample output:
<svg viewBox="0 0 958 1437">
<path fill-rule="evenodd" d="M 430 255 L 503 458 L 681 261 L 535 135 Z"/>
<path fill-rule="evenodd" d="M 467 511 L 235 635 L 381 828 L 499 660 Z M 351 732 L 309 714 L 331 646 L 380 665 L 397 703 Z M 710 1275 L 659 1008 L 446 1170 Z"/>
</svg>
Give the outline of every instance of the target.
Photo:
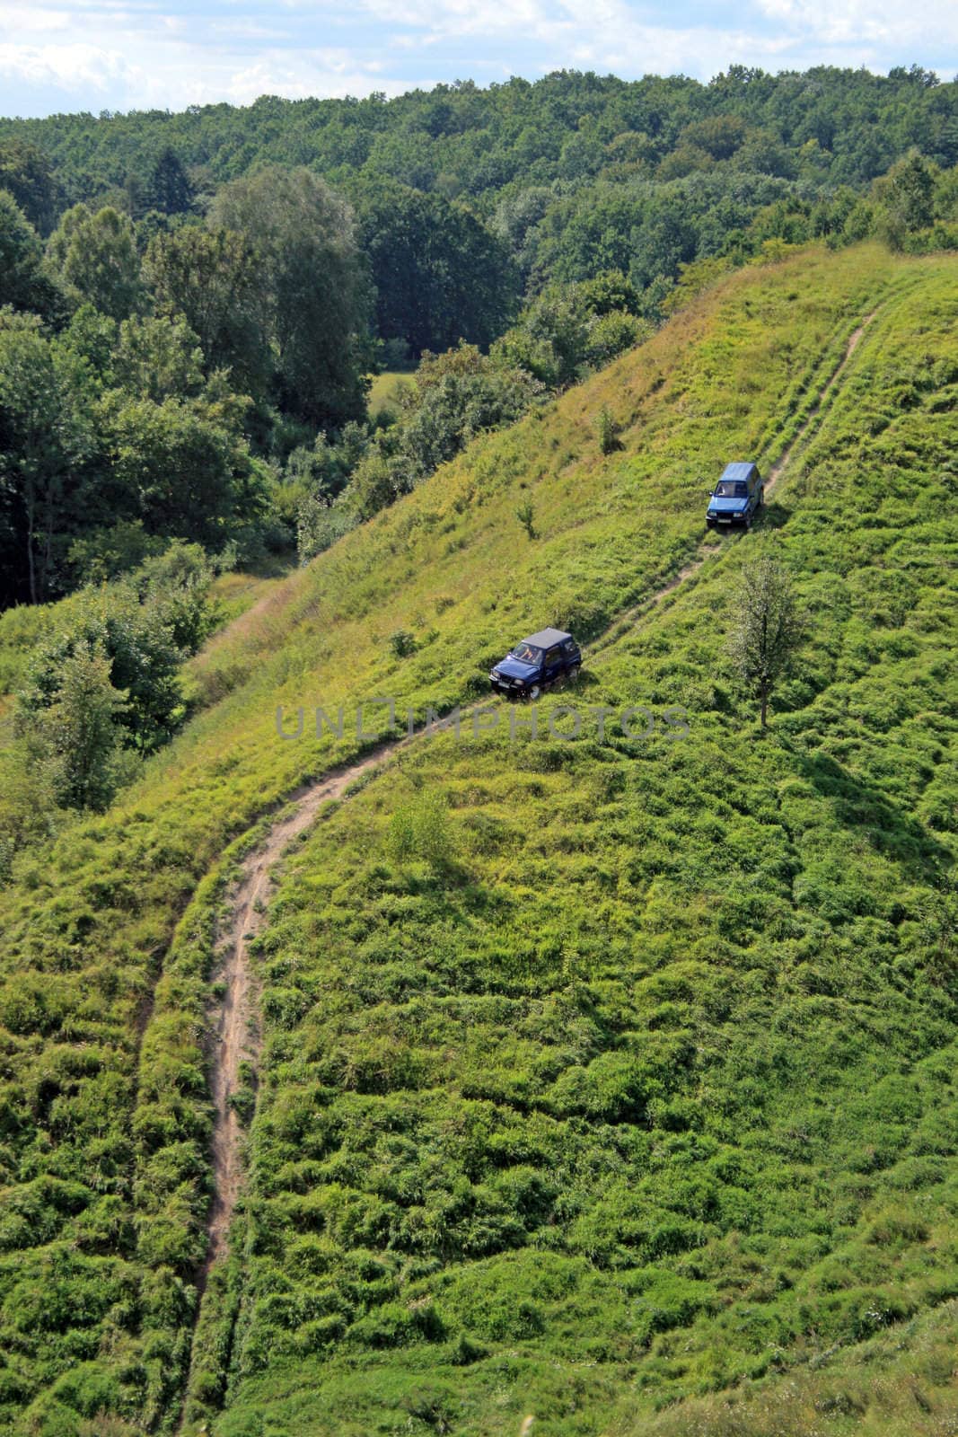
<svg viewBox="0 0 958 1437">
<path fill-rule="evenodd" d="M 142 306 L 134 227 L 111 205 L 95 214 L 85 204 L 68 210 L 47 241 L 47 256 L 78 305 L 89 300 L 112 319 L 128 319 Z"/>
</svg>

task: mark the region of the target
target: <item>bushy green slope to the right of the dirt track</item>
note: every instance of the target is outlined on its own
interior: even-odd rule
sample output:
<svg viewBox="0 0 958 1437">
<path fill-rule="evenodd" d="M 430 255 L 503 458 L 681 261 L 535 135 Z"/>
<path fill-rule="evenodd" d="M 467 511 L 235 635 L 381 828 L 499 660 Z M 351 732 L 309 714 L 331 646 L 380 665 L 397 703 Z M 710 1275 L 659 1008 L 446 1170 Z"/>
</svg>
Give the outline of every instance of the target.
<svg viewBox="0 0 958 1437">
<path fill-rule="evenodd" d="M 722 660 L 755 536 L 590 664 L 589 700 L 682 703 L 687 740 L 422 743 L 290 865 L 218 1431 L 643 1431 L 958 1295 L 957 292 L 928 280 L 776 494 L 813 639 L 774 734 Z M 440 858 L 398 864 L 425 805 Z"/>
</svg>

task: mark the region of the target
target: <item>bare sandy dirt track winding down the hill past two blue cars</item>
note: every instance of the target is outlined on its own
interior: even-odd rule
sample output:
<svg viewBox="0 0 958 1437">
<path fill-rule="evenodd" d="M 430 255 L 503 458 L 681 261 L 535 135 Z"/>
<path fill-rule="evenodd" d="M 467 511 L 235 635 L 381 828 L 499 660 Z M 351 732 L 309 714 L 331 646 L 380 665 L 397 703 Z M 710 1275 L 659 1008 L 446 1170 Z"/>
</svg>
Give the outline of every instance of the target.
<svg viewBox="0 0 958 1437">
<path fill-rule="evenodd" d="M 866 326 L 876 313 L 878 310 L 873 310 L 868 315 L 849 338 L 842 361 L 822 387 L 804 424 L 789 448 L 768 470 L 766 493 L 770 493 L 776 487 L 796 448 L 810 435 L 822 405 L 842 378 Z M 658 606 L 662 599 L 674 593 L 704 563 L 708 563 L 710 559 L 714 559 L 721 552 L 714 550 L 711 555 L 699 555 L 699 558 L 679 569 L 655 593 L 642 599 L 635 608 L 618 615 L 610 625 L 610 634 L 605 641 L 592 645 L 592 651 L 595 652 L 615 642 L 622 635 L 625 627 Z M 243 1186 L 241 1125 L 233 1108 L 231 1098 L 240 1088 L 240 1065 L 244 1061 L 256 1065 L 260 1050 L 256 990 L 248 960 L 248 944 L 260 931 L 266 918 L 266 900 L 271 887 L 273 869 L 293 839 L 313 823 L 325 803 L 342 798 L 350 783 L 371 769 L 375 769 L 388 756 L 406 747 L 411 741 L 415 740 L 398 739 L 395 741 L 385 741 L 356 763 L 335 769 L 322 779 L 297 789 L 290 795 L 286 816 L 280 818 L 271 826 L 263 845 L 243 859 L 238 887 L 230 897 L 231 920 L 228 930 L 223 935 L 220 948 L 221 961 L 214 974 L 220 983 L 225 984 L 225 990 L 213 1030 L 210 1091 L 214 1106 L 214 1198 L 208 1221 L 207 1259 L 198 1279 L 200 1296 L 205 1289 L 213 1266 L 225 1253 L 230 1223 Z"/>
</svg>

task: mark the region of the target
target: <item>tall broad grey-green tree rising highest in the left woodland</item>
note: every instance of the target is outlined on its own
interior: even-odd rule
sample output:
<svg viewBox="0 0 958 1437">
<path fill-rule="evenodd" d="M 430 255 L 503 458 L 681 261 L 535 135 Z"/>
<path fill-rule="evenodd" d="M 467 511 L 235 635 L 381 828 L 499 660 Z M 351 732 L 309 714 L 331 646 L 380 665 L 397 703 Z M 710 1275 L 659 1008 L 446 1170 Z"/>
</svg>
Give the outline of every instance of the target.
<svg viewBox="0 0 958 1437">
<path fill-rule="evenodd" d="M 259 254 L 280 405 L 317 428 L 362 418 L 371 295 L 349 205 L 273 167 L 221 190 L 210 218 Z"/>
</svg>

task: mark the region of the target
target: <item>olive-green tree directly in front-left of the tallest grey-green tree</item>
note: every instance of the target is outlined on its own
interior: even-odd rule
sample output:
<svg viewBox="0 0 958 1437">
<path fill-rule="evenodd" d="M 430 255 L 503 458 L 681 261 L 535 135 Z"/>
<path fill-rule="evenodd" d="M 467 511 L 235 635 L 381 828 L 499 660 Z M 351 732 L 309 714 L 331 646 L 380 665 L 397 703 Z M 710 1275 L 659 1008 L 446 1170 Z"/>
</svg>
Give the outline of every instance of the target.
<svg viewBox="0 0 958 1437">
<path fill-rule="evenodd" d="M 185 315 L 207 369 L 227 369 L 234 389 L 263 397 L 271 374 L 269 309 L 253 244 L 227 228 L 158 234 L 144 276 L 161 315 Z"/>
</svg>

